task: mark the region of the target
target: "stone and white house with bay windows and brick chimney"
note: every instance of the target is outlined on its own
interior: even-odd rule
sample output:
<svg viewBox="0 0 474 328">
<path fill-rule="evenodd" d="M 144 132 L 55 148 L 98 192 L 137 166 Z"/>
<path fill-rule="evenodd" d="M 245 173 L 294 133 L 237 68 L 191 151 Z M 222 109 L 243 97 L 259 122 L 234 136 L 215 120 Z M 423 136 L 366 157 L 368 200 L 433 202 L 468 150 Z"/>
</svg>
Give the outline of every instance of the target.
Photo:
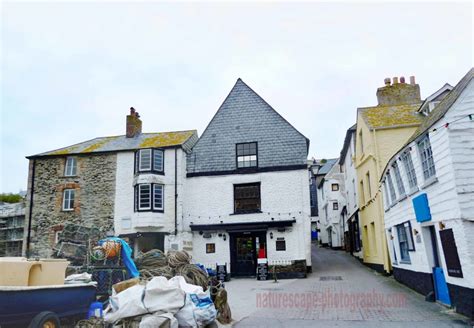
<svg viewBox="0 0 474 328">
<path fill-rule="evenodd" d="M 173 161 L 170 168 L 160 172 L 154 169 L 155 162 L 167 158 L 168 149 L 185 148 L 184 145 L 189 145 L 190 148 L 196 139 L 196 131 L 142 133 L 141 120 L 132 108 L 127 116 L 126 135 L 95 138 L 29 156 L 24 254 L 50 257 L 57 234 L 67 223 L 97 228 L 104 237 L 122 232 L 140 232 L 141 225 L 137 222 L 146 220 L 144 217 L 163 216 L 159 214 L 159 210 L 155 211 L 157 208 L 154 203 L 160 200 L 159 187 L 154 187 L 154 184 L 158 186 L 164 183 L 163 179 L 168 175 L 174 176 Z M 142 150 L 146 152 L 143 156 L 151 167 L 148 172 L 136 169 L 136 160 L 134 162 Z M 150 157 L 151 154 L 154 157 Z M 171 154 L 169 157 L 172 158 Z M 124 168 L 127 164 L 128 167 Z M 139 184 L 146 184 L 148 187 L 140 188 Z M 150 191 L 150 188 L 154 189 Z M 150 205 L 143 211 L 134 203 L 134 199 L 140 201 L 140 191 L 143 199 L 148 197 L 147 204 Z M 169 206 L 170 215 L 166 220 L 170 222 L 166 224 L 167 228 L 174 227 L 175 219 L 175 207 L 171 204 L 174 201 L 169 203 L 170 197 L 165 196 L 168 193 L 174 199 L 172 190 L 162 189 L 159 196 L 162 197 L 161 204 L 166 199 L 164 204 Z M 122 196 L 124 194 L 126 196 Z M 145 202 L 142 200 L 144 205 Z M 129 209 L 124 209 L 124 205 Z M 131 220 L 130 227 L 121 225 L 124 217 Z M 163 221 L 164 218 L 160 224 Z M 147 227 L 149 226 L 153 227 L 153 224 L 148 224 Z M 169 233 L 169 230 L 162 232 Z"/>
</svg>

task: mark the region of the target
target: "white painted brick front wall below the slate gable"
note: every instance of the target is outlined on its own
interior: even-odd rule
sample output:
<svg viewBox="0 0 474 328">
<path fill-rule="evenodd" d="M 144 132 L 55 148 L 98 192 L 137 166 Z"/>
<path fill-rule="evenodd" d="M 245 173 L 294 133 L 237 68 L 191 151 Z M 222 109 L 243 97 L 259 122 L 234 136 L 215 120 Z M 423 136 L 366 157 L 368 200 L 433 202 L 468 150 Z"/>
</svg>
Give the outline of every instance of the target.
<svg viewBox="0 0 474 328">
<path fill-rule="evenodd" d="M 234 215 L 234 184 L 260 182 L 262 213 Z M 269 260 L 302 260 L 311 265 L 311 232 L 307 170 L 232 174 L 187 178 L 184 203 L 184 226 L 189 224 L 248 223 L 273 220 L 296 220 L 285 232 L 269 229 Z M 273 239 L 270 239 L 273 232 Z M 194 258 L 230 263 L 228 246 L 223 246 L 215 232 L 211 239 L 193 233 Z M 285 237 L 286 251 L 275 250 L 277 237 Z M 216 253 L 206 255 L 206 242 L 216 243 Z M 225 243 L 229 244 L 229 235 Z M 222 264 L 222 263 L 220 263 Z"/>
</svg>

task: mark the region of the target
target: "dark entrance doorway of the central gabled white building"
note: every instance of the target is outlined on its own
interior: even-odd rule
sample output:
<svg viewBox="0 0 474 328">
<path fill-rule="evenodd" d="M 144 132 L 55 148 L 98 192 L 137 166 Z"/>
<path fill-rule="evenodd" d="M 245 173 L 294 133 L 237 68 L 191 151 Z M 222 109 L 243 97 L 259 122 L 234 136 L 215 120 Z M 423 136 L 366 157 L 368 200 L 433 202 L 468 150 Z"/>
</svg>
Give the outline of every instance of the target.
<svg viewBox="0 0 474 328">
<path fill-rule="evenodd" d="M 259 249 L 265 249 L 265 232 L 239 232 L 230 235 L 230 266 L 232 277 L 255 277 Z"/>
</svg>

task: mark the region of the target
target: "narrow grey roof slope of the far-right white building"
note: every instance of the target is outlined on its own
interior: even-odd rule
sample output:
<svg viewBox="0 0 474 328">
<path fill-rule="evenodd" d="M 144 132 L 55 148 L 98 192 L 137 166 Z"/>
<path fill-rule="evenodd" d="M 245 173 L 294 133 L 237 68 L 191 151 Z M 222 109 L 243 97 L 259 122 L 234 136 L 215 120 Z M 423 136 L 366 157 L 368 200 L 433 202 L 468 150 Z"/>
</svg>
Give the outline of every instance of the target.
<svg viewBox="0 0 474 328">
<path fill-rule="evenodd" d="M 431 128 L 436 122 L 443 118 L 443 116 L 448 112 L 454 102 L 458 99 L 464 89 L 467 87 L 469 82 L 474 77 L 474 68 L 471 68 L 469 72 L 461 79 L 461 81 L 456 84 L 453 90 L 444 97 L 443 100 L 436 106 L 433 111 L 428 115 L 423 123 L 418 127 L 418 129 L 413 133 L 413 135 L 408 139 L 407 144 L 411 143 L 417 139 L 420 135 L 424 134 Z"/>
</svg>

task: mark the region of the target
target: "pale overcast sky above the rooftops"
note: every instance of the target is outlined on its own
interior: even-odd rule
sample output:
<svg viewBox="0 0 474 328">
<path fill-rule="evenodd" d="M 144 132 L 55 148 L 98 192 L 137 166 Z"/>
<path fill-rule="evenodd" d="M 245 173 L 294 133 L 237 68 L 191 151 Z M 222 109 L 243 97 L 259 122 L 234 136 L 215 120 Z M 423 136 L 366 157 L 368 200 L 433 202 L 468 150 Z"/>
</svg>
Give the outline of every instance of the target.
<svg viewBox="0 0 474 328">
<path fill-rule="evenodd" d="M 356 108 L 385 77 L 422 97 L 473 65 L 472 4 L 3 2 L 1 192 L 26 189 L 25 156 L 125 133 L 202 133 L 242 78 L 337 157 Z M 258 124 L 256 122 L 256 124 Z"/>
</svg>

